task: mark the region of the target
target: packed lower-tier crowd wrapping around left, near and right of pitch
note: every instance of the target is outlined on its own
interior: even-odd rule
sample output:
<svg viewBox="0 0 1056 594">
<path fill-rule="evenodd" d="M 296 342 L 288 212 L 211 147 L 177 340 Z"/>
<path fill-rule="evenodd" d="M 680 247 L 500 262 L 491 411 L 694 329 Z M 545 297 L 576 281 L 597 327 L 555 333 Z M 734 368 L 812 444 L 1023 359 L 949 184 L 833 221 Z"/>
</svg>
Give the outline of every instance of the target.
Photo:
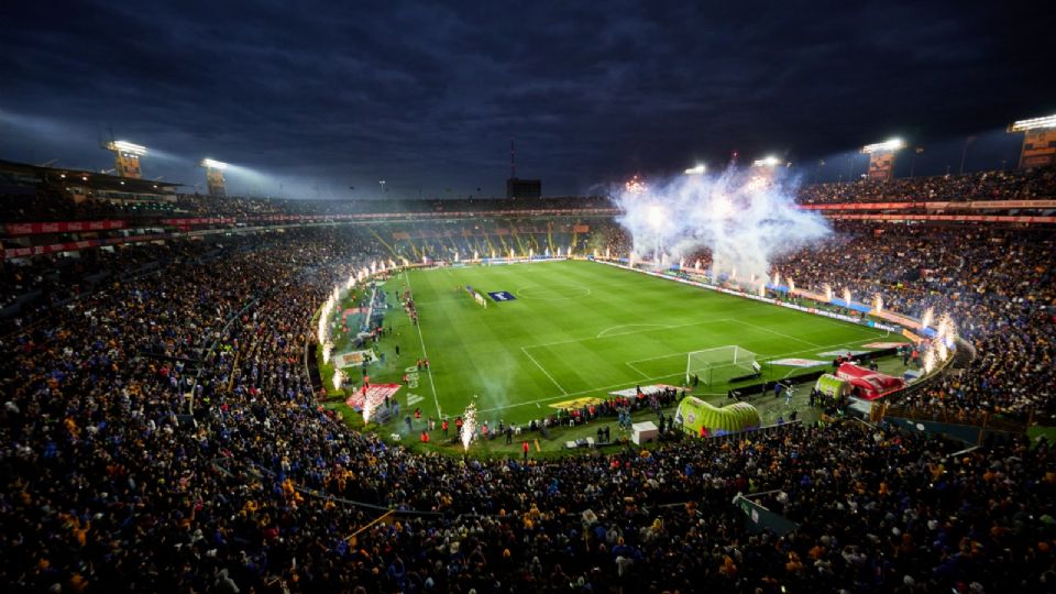
<svg viewBox="0 0 1056 594">
<path fill-rule="evenodd" d="M 1053 311 L 1040 309 L 1054 305 L 1050 238 L 840 231 L 782 274 L 858 295 L 879 278 L 893 309 L 952 306 L 981 352 L 1050 363 Z M 222 256 L 160 260 L 6 336 L 7 590 L 1056 587 L 1046 443 L 954 453 L 839 421 L 544 462 L 421 454 L 350 430 L 319 407 L 305 358 L 333 283 L 382 255 L 370 238 L 339 228 L 235 239 Z M 933 397 L 975 406 L 961 396 L 969 383 L 1008 409 L 1048 396 L 1052 365 L 1040 371 L 1047 381 L 1013 386 L 1016 371 L 998 373 L 1009 359 L 977 361 Z M 799 529 L 750 530 L 737 493 L 759 494 Z"/>
</svg>

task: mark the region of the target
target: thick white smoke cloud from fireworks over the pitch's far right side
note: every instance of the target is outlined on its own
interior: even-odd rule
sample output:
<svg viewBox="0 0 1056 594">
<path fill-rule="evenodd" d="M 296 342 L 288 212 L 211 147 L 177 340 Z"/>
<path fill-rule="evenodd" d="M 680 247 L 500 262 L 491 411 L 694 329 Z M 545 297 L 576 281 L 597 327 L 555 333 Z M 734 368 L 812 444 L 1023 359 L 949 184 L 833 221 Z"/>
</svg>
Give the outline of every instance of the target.
<svg viewBox="0 0 1056 594">
<path fill-rule="evenodd" d="M 634 238 L 635 257 L 659 251 L 664 263 L 678 262 L 707 249 L 715 277 L 762 284 L 776 256 L 832 232 L 821 215 L 795 208 L 794 186 L 781 173 L 728 168 L 660 185 L 628 184 L 616 195 L 625 212 L 618 221 Z"/>
</svg>

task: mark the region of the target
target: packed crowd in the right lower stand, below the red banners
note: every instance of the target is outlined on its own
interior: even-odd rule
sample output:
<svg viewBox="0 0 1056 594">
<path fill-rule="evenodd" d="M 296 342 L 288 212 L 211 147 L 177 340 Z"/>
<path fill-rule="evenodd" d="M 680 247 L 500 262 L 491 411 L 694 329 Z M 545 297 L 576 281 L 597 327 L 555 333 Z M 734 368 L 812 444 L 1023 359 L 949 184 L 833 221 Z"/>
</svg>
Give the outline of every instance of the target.
<svg viewBox="0 0 1056 594">
<path fill-rule="evenodd" d="M 1056 234 L 839 226 L 836 238 L 776 264 L 798 286 L 844 287 L 853 299 L 922 318 L 948 312 L 978 356 L 909 397 L 913 406 L 964 418 L 972 411 L 1052 420 L 1056 415 Z M 1040 419 L 1041 420 L 1041 419 Z"/>
</svg>

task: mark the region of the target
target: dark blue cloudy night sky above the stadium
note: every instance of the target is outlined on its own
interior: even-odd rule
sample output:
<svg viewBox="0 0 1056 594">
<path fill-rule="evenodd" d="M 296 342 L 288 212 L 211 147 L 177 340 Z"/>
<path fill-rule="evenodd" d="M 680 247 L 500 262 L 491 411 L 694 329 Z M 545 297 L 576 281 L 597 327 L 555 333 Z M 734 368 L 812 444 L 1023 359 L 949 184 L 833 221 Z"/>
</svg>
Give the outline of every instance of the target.
<svg viewBox="0 0 1056 594">
<path fill-rule="evenodd" d="M 1014 158 L 1004 125 L 1056 111 L 1044 2 L 916 4 L 12 2 L 0 158 L 110 167 L 112 127 L 148 177 L 210 156 L 235 191 L 362 198 L 501 195 L 510 136 L 551 196 L 734 148 L 860 173 L 893 134 L 917 174 L 969 134 L 969 168 Z"/>
</svg>

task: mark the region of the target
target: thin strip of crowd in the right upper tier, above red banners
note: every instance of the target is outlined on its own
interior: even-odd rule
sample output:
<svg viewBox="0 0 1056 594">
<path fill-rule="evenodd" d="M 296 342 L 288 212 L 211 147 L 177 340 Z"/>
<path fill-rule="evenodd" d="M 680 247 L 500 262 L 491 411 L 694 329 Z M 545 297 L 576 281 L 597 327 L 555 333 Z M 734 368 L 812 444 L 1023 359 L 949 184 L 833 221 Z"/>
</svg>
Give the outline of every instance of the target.
<svg viewBox="0 0 1056 594">
<path fill-rule="evenodd" d="M 964 200 L 1033 200 L 1056 197 L 1056 167 L 978 172 L 935 177 L 860 179 L 803 186 L 805 205 L 837 202 L 925 202 Z"/>
</svg>

